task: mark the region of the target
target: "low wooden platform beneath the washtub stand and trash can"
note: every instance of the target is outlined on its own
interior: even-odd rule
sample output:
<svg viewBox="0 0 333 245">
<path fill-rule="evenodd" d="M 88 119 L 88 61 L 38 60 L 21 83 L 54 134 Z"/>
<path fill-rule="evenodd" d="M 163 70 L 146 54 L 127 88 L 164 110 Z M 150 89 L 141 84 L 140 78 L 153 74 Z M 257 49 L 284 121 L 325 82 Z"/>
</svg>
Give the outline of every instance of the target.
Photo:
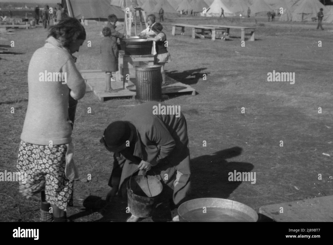
<svg viewBox="0 0 333 245">
<path fill-rule="evenodd" d="M 106 99 L 131 97 L 135 98 L 136 92 L 129 89 L 123 89 L 123 80 L 112 82 L 113 89 L 119 89 L 118 92 L 106 93 L 105 90 L 105 72 L 101 70 L 81 70 L 82 77 L 86 80 L 87 85 L 98 97 L 99 101 L 103 102 Z M 136 83 L 135 78 L 128 81 L 128 85 L 132 86 Z M 162 86 L 162 94 L 172 93 L 191 93 L 195 95 L 195 89 L 190 85 L 178 82 L 166 76 L 166 85 Z"/>
</svg>

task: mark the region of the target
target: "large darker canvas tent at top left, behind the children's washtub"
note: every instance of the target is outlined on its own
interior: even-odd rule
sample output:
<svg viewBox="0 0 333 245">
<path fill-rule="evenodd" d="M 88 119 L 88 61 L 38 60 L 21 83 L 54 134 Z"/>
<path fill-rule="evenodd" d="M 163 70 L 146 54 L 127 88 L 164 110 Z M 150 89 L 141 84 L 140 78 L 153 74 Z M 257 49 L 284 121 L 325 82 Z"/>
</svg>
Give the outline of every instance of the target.
<svg viewBox="0 0 333 245">
<path fill-rule="evenodd" d="M 124 19 L 124 11 L 118 6 L 110 5 L 110 0 L 62 0 L 62 6 L 68 15 L 77 19 L 107 20 L 110 14 Z"/>
</svg>

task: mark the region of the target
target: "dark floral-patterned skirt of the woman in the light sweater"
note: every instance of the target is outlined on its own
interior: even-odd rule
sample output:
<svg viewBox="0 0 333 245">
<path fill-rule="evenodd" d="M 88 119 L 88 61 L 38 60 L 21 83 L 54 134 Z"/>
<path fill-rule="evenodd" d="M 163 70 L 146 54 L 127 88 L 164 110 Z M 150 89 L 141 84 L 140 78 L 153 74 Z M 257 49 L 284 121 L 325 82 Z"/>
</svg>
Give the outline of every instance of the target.
<svg viewBox="0 0 333 245">
<path fill-rule="evenodd" d="M 66 145 L 42 146 L 21 141 L 17 159 L 18 172 L 26 172 L 19 191 L 27 198 L 45 190 L 45 200 L 66 211 L 73 206 L 74 181 L 65 176 Z"/>
</svg>

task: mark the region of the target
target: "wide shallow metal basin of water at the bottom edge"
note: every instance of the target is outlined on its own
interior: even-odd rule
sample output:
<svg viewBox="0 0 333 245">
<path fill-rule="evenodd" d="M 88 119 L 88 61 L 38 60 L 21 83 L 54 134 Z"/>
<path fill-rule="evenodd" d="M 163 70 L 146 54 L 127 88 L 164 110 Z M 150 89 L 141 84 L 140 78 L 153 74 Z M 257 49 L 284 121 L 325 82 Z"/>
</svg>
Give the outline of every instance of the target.
<svg viewBox="0 0 333 245">
<path fill-rule="evenodd" d="M 222 198 L 197 198 L 178 207 L 181 222 L 256 222 L 258 214 L 249 206 Z"/>
</svg>

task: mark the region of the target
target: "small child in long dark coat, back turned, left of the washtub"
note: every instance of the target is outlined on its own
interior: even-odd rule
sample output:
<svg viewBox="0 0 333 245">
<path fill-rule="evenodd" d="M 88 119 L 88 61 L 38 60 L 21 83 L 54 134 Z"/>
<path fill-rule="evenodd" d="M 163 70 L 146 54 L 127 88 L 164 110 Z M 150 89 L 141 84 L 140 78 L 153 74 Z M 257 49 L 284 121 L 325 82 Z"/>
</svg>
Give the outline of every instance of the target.
<svg viewBox="0 0 333 245">
<path fill-rule="evenodd" d="M 116 79 L 112 77 L 112 72 L 118 71 L 118 46 L 111 38 L 110 28 L 104 27 L 102 33 L 104 38 L 101 43 L 101 54 L 102 71 L 105 71 L 105 92 L 117 92 L 112 89 L 111 81 L 116 81 Z"/>
</svg>

